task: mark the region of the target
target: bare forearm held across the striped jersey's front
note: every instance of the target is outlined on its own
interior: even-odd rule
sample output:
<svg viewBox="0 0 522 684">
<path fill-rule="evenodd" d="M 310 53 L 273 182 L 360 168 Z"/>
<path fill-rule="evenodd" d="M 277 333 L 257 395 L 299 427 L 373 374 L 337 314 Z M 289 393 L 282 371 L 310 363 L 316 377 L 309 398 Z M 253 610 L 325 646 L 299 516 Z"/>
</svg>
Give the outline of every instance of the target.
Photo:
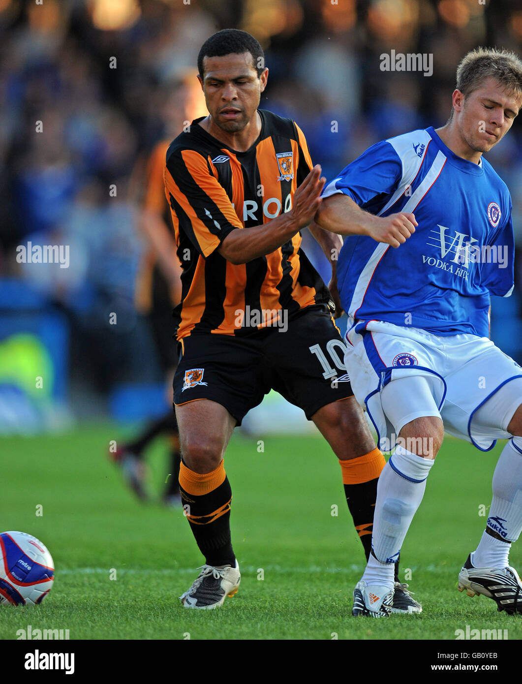
<svg viewBox="0 0 522 684">
<path fill-rule="evenodd" d="M 262 226 L 236 228 L 222 241 L 218 252 L 231 263 L 247 263 L 274 252 L 298 232 L 298 223 L 284 213 Z"/>
</svg>

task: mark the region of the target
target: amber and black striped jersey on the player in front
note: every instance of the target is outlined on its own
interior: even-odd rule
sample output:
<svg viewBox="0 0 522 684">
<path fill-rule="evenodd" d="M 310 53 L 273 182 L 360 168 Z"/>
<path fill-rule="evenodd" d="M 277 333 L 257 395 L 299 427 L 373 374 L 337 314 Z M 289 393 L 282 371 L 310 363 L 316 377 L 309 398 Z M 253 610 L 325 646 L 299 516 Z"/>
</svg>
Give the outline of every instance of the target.
<svg viewBox="0 0 522 684">
<path fill-rule="evenodd" d="M 258 111 L 261 133 L 246 152 L 209 135 L 198 125 L 203 117 L 168 148 L 165 192 L 183 267 L 181 304 L 174 309 L 177 339 L 196 332 L 252 334 L 273 326 L 278 311 L 291 317 L 330 299 L 300 249 L 300 233 L 266 257 L 240 265 L 218 252 L 236 228 L 259 226 L 289 211 L 296 187 L 313 166 L 297 124 Z"/>
</svg>

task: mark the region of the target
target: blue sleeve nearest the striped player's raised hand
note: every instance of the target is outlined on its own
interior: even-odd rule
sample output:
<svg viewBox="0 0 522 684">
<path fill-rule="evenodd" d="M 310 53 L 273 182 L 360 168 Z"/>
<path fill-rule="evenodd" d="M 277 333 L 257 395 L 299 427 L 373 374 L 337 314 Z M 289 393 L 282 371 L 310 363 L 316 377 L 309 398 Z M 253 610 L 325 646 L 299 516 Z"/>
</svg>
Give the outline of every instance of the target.
<svg viewBox="0 0 522 684">
<path fill-rule="evenodd" d="M 369 209 L 377 198 L 390 196 L 402 179 L 402 161 L 386 140 L 369 147 L 348 164 L 323 190 L 328 197 L 342 192 L 359 207 Z"/>
</svg>

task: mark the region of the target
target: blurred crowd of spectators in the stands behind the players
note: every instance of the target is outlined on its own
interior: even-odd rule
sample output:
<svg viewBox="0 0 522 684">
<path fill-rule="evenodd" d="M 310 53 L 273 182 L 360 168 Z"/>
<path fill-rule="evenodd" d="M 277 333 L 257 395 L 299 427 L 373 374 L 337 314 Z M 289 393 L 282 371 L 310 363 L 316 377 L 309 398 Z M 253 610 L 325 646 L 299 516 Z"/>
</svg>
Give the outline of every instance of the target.
<svg viewBox="0 0 522 684">
<path fill-rule="evenodd" d="M 183 117 L 206 114 L 196 57 L 226 27 L 250 31 L 270 70 L 261 107 L 295 119 L 327 179 L 384 137 L 447 120 L 455 71 L 480 44 L 520 51 L 518 0 L 0 0 L 0 300 L 16 280 L 60 310 L 70 373 L 103 395 L 158 379 L 135 308 L 146 161 Z M 433 73 L 383 72 L 382 53 L 433 55 Z M 192 79 L 190 106 L 172 97 Z M 192 100 L 191 100 L 192 98 Z M 175 124 L 175 125 L 174 125 Z M 488 155 L 512 192 L 522 245 L 522 135 Z M 21 264 L 16 246 L 70 246 L 70 266 Z M 306 239 L 328 278 L 322 253 Z M 522 268 L 517 260 L 517 280 Z M 519 322 L 520 289 L 497 320 Z M 496 305 L 495 305 L 496 306 Z M 495 306 L 493 322 L 495 322 Z M 504 308 L 502 308 L 504 307 Z M 118 313 L 118 325 L 109 314 Z M 506 334 L 504 324 L 498 334 Z M 510 328 L 511 330 L 511 328 Z M 506 352 L 522 360 L 512 332 Z"/>
</svg>

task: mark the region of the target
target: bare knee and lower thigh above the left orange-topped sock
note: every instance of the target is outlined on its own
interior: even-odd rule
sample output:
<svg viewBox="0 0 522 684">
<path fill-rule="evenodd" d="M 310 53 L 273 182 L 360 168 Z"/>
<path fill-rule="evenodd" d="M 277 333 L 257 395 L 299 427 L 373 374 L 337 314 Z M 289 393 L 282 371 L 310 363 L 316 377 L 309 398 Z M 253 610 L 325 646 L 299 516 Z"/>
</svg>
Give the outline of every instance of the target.
<svg viewBox="0 0 522 684">
<path fill-rule="evenodd" d="M 185 464 L 196 473 L 215 470 L 235 428 L 235 418 L 209 399 L 176 406 L 176 418 Z"/>
</svg>

